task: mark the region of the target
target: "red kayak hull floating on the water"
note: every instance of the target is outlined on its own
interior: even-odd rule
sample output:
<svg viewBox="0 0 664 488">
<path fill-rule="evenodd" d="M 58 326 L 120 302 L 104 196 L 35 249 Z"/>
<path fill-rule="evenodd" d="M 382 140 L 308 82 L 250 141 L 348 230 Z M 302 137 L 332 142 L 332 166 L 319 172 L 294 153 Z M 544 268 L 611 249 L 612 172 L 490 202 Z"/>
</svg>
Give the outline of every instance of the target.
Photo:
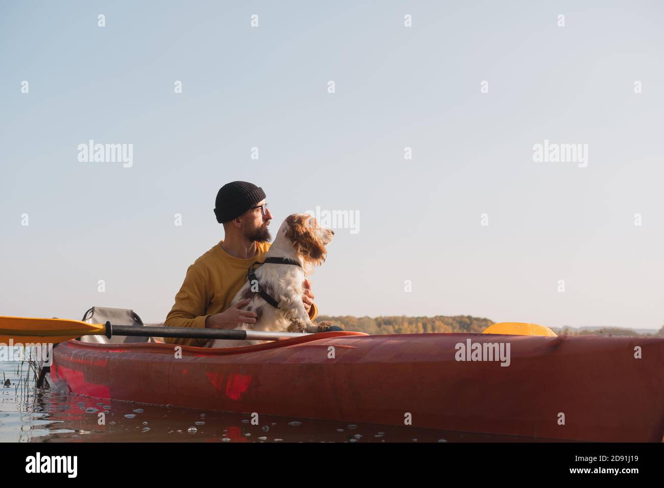
<svg viewBox="0 0 664 488">
<path fill-rule="evenodd" d="M 174 348 L 67 341 L 50 380 L 104 400 L 221 412 L 551 440 L 664 434 L 664 338 L 327 332 L 182 347 L 181 357 Z"/>
</svg>

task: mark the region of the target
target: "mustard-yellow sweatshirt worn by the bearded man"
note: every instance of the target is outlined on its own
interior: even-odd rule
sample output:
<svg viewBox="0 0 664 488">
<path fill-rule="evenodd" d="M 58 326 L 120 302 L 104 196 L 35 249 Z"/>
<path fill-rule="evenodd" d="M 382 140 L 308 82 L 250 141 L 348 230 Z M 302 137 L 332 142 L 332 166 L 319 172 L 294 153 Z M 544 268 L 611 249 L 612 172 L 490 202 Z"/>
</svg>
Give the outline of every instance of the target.
<svg viewBox="0 0 664 488">
<path fill-rule="evenodd" d="M 258 254 L 248 259 L 231 256 L 221 247 L 221 240 L 198 258 L 187 269 L 187 276 L 175 295 L 175 305 L 166 317 L 166 327 L 197 327 L 205 329 L 205 319 L 225 311 L 247 279 L 247 270 L 254 262 L 263 262 L 270 249 L 267 242 L 256 242 Z M 311 320 L 318 315 L 318 308 L 309 310 Z M 207 339 L 169 339 L 167 344 L 203 346 Z"/>
</svg>

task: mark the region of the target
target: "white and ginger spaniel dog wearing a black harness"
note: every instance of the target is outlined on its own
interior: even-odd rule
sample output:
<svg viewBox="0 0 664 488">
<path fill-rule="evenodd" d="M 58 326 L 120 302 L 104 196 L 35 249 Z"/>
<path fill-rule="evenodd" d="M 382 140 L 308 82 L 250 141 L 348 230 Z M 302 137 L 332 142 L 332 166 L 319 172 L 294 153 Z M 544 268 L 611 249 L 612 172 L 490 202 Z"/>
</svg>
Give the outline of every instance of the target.
<svg viewBox="0 0 664 488">
<path fill-rule="evenodd" d="M 263 264 L 255 263 L 247 282 L 235 295 L 231 305 L 250 299 L 245 310 L 254 311 L 256 323 L 244 323 L 236 329 L 274 332 L 321 332 L 331 323 L 311 322 L 304 308 L 302 294 L 305 276 L 325 261 L 333 230 L 320 227 L 309 214 L 292 214 L 279 228 L 274 243 L 265 254 Z M 256 268 L 258 264 L 258 268 Z M 207 347 L 236 347 L 264 341 L 210 340 Z"/>
</svg>

